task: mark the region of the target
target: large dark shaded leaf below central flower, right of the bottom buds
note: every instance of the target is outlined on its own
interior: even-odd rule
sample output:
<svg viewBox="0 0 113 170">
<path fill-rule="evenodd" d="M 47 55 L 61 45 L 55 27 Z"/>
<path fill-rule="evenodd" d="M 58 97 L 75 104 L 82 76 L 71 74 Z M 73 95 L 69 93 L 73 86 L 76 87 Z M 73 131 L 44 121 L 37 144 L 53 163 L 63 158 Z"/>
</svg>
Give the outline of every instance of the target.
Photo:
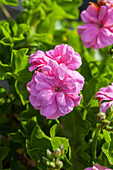
<svg viewBox="0 0 113 170">
<path fill-rule="evenodd" d="M 90 131 L 90 123 L 87 120 L 83 120 L 82 111 L 80 108 L 76 108 L 70 114 L 65 116 L 63 119 L 63 135 L 69 138 L 72 151 L 72 164 L 73 168 L 76 170 L 83 170 L 88 167 L 88 161 L 86 158 L 81 156 L 87 154 L 86 149 L 88 145 L 85 141 L 85 137 Z M 89 156 L 88 156 L 89 157 Z M 81 161 L 82 160 L 82 161 Z"/>
</svg>

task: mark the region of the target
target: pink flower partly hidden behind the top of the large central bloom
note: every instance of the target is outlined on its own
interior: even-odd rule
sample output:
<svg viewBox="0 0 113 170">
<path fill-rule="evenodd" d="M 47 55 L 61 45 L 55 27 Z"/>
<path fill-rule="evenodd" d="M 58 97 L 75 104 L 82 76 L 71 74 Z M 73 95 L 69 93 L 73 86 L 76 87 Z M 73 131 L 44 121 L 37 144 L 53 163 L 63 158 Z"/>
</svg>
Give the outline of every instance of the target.
<svg viewBox="0 0 113 170">
<path fill-rule="evenodd" d="M 48 65 L 49 60 L 55 60 L 58 64 L 64 63 L 71 70 L 78 69 L 82 64 L 80 55 L 71 46 L 62 44 L 55 46 L 54 50 L 45 53 L 38 50 L 35 54 L 32 54 L 29 60 L 32 65 L 29 70 L 33 71 L 36 68 L 39 70 Z"/>
</svg>

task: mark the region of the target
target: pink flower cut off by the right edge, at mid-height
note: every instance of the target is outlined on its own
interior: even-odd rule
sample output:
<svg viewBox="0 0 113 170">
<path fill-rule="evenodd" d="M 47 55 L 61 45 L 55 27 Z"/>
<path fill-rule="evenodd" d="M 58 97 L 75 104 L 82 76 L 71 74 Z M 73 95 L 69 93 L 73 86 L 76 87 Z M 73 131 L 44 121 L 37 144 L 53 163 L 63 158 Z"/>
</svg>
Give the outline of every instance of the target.
<svg viewBox="0 0 113 170">
<path fill-rule="evenodd" d="M 96 97 L 98 97 L 99 105 L 103 102 L 100 106 L 100 111 L 106 113 L 106 110 L 113 105 L 113 83 L 107 87 L 100 88 L 97 92 Z"/>
</svg>

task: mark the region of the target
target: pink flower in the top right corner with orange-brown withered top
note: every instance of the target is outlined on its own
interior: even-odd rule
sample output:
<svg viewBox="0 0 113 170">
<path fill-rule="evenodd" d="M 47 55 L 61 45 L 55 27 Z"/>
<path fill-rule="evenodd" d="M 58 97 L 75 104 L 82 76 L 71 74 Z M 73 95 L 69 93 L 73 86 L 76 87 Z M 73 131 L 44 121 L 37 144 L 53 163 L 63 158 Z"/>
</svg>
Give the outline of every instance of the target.
<svg viewBox="0 0 113 170">
<path fill-rule="evenodd" d="M 95 50 L 113 44 L 113 7 L 110 4 L 99 8 L 89 5 L 81 18 L 85 24 L 78 26 L 78 34 L 84 46 Z"/>
</svg>

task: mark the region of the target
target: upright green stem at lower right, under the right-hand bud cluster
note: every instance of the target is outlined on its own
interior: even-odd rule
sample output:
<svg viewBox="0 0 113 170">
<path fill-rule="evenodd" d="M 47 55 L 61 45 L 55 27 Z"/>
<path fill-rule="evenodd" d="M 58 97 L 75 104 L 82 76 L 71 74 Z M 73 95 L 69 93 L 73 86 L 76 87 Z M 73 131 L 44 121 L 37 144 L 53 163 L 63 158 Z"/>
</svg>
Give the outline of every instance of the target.
<svg viewBox="0 0 113 170">
<path fill-rule="evenodd" d="M 93 139 L 93 143 L 92 143 L 92 158 L 93 158 L 93 160 L 95 160 L 95 158 L 96 158 L 97 140 L 98 140 L 98 136 L 99 136 L 101 127 L 102 127 L 102 125 L 99 124 L 97 129 L 96 129 L 94 139 Z"/>
</svg>

